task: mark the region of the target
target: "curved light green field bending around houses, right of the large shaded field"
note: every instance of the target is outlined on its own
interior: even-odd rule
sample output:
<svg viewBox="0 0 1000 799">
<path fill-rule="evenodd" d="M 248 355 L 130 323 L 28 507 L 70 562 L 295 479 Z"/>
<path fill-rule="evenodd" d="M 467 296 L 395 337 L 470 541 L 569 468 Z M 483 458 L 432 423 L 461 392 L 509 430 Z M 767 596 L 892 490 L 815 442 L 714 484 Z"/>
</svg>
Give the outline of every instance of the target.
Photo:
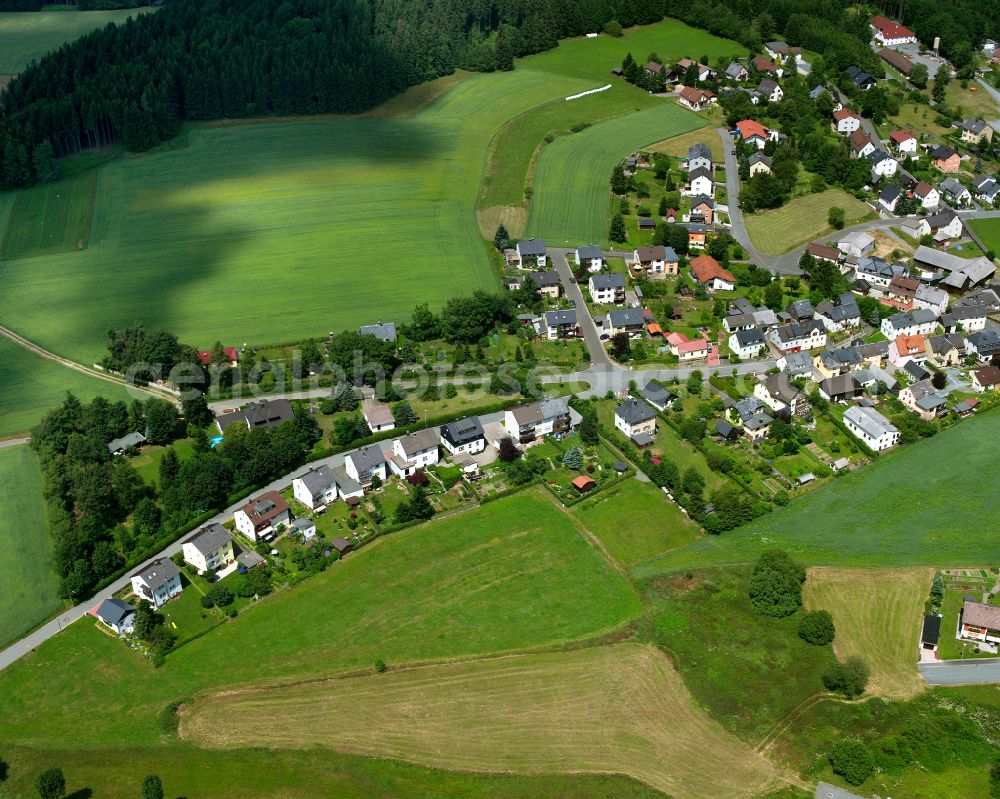
<svg viewBox="0 0 1000 799">
<path fill-rule="evenodd" d="M 639 147 L 705 124 L 664 102 L 556 139 L 538 159 L 527 235 L 550 246 L 606 243 L 614 165 Z"/>
</svg>

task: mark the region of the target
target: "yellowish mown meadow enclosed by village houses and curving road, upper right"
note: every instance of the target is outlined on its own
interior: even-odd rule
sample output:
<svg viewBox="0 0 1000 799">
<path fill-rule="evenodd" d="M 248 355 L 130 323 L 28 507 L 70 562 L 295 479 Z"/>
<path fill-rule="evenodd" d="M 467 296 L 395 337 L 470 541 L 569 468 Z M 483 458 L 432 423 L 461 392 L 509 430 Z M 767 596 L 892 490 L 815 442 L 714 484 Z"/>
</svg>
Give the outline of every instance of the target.
<svg viewBox="0 0 1000 799">
<path fill-rule="evenodd" d="M 875 217 L 870 206 L 843 189 L 827 189 L 796 197 L 781 208 L 744 214 L 743 220 L 754 246 L 761 252 L 778 255 L 832 233 L 827 215 L 835 206 L 844 209 L 848 226 Z"/>
</svg>

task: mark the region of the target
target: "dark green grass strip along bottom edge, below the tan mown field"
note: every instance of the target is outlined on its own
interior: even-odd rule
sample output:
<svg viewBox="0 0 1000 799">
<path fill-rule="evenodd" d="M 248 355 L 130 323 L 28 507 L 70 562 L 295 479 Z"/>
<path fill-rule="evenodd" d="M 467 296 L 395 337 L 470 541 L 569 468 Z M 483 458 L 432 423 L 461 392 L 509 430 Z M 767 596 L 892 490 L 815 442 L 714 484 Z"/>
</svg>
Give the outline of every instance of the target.
<svg viewBox="0 0 1000 799">
<path fill-rule="evenodd" d="M 58 763 L 75 797 L 137 796 L 147 774 L 158 774 L 167 796 L 213 799 L 662 799 L 663 794 L 617 775 L 510 775 L 445 771 L 329 749 L 224 752 L 190 746 L 123 747 L 114 757 L 94 750 L 4 747 L 15 796 L 35 794 L 39 764 Z M 8 783 L 5 783 L 5 786 Z M 3 795 L 3 794 L 0 794 Z"/>
</svg>

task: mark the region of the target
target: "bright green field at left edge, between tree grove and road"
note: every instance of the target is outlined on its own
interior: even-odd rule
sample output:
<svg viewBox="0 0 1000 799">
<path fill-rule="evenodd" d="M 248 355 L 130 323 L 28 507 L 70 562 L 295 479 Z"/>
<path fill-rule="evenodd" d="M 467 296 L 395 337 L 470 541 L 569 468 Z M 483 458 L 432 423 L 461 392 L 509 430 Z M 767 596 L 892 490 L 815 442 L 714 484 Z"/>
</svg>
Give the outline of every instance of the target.
<svg viewBox="0 0 1000 799">
<path fill-rule="evenodd" d="M 0 649 L 59 609 L 38 461 L 0 449 Z"/>
</svg>

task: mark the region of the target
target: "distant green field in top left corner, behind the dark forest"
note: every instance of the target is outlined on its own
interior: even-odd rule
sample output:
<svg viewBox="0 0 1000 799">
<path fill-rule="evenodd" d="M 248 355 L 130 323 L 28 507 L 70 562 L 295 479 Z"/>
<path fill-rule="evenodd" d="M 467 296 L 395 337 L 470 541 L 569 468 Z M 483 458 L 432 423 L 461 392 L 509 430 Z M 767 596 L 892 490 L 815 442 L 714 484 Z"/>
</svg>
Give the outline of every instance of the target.
<svg viewBox="0 0 1000 799">
<path fill-rule="evenodd" d="M 0 75 L 14 75 L 32 61 L 109 22 L 149 9 L 121 11 L 6 11 L 0 14 Z"/>
</svg>

